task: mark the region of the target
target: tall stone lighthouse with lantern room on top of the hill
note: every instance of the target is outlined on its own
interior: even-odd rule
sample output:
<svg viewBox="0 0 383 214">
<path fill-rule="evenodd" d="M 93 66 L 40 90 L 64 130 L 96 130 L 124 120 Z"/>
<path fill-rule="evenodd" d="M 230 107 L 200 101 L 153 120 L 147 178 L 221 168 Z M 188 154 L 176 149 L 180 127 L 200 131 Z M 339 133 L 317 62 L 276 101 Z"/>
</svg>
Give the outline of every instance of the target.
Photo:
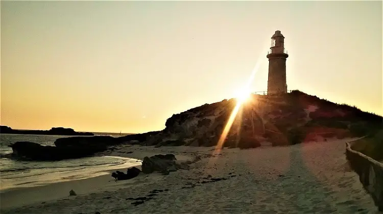
<svg viewBox="0 0 383 214">
<path fill-rule="evenodd" d="M 287 93 L 286 59 L 289 55 L 284 50 L 284 37 L 280 31 L 276 31 L 271 37 L 270 49 L 266 56 L 269 59 L 267 94 Z"/>
</svg>

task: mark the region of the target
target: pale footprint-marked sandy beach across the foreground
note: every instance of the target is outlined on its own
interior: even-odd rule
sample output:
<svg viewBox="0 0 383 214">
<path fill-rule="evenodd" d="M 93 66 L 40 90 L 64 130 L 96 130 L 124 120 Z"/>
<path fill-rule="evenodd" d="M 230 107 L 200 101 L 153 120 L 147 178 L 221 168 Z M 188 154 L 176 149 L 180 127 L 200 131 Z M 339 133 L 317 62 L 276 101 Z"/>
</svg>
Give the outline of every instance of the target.
<svg viewBox="0 0 383 214">
<path fill-rule="evenodd" d="M 212 155 L 214 147 L 119 146 L 105 155 L 202 159 L 169 175 L 115 182 L 109 174 L 16 189 L 2 195 L 2 213 L 378 213 L 348 168 L 347 140 L 225 148 L 219 155 Z M 78 195 L 69 197 L 71 189 Z M 137 197 L 148 200 L 132 204 Z"/>
</svg>

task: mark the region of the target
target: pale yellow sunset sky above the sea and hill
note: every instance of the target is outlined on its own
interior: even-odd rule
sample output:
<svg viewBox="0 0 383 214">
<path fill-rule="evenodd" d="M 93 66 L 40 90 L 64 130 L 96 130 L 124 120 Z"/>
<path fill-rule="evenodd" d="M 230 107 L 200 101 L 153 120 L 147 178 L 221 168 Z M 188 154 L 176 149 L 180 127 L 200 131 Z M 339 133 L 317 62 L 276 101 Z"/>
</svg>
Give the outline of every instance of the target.
<svg viewBox="0 0 383 214">
<path fill-rule="evenodd" d="M 1 124 L 161 130 L 267 90 L 276 30 L 289 90 L 383 115 L 381 1 L 1 1 Z"/>
</svg>

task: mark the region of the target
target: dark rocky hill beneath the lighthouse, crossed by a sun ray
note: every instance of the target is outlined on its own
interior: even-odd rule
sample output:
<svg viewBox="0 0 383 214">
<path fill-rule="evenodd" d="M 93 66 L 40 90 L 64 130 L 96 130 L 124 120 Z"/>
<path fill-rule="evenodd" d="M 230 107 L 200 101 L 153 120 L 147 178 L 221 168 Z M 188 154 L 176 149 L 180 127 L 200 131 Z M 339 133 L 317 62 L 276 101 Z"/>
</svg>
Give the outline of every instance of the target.
<svg viewBox="0 0 383 214">
<path fill-rule="evenodd" d="M 229 99 L 175 114 L 166 120 L 165 129 L 141 144 L 214 146 L 236 104 L 236 99 Z M 374 135 L 381 124 L 379 115 L 297 90 L 278 96 L 252 94 L 240 107 L 224 146 L 250 148 L 262 142 L 285 146 L 332 137 L 361 137 Z"/>
</svg>

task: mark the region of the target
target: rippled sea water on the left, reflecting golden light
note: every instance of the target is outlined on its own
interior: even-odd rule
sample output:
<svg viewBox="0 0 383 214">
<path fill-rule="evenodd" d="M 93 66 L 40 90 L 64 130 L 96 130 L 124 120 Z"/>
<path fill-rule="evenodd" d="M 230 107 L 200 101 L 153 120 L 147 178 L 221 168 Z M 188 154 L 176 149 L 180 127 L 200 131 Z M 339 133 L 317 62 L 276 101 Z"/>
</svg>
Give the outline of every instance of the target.
<svg viewBox="0 0 383 214">
<path fill-rule="evenodd" d="M 95 135 L 109 135 L 96 133 Z M 12 153 L 10 144 L 17 141 L 30 141 L 41 145 L 54 146 L 58 138 L 69 136 L 14 135 L 0 134 L 0 192 L 13 188 L 26 188 L 49 183 L 85 179 L 108 174 L 108 170 L 129 168 L 139 165 L 139 160 L 116 156 L 96 156 L 66 159 L 53 162 L 19 161 L 5 157 Z"/>
</svg>

